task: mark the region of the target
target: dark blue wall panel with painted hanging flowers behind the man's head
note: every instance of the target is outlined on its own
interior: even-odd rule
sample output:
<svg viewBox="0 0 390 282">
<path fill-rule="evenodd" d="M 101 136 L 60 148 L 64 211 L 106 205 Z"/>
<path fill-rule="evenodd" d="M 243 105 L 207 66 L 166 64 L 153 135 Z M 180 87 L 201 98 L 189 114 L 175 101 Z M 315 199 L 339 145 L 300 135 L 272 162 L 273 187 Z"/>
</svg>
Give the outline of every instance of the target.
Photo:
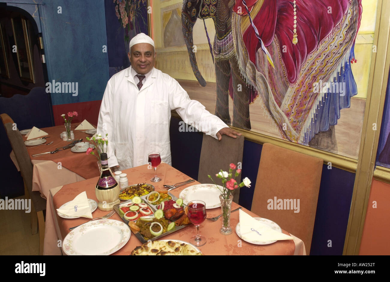
<svg viewBox="0 0 390 282">
<path fill-rule="evenodd" d="M 129 67 L 129 42 L 138 33 L 147 34 L 146 0 L 105 0 L 110 77 Z"/>
</svg>

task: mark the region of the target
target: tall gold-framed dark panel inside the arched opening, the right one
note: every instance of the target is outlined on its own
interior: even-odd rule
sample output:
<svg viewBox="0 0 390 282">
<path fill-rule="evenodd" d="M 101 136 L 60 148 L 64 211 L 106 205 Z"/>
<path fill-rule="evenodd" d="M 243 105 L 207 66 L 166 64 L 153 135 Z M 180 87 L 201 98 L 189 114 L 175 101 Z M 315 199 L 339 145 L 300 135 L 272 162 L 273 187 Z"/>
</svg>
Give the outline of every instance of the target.
<svg viewBox="0 0 390 282">
<path fill-rule="evenodd" d="M 26 20 L 23 18 L 12 18 L 11 23 L 16 45 L 20 78 L 22 80 L 35 83 Z"/>
</svg>

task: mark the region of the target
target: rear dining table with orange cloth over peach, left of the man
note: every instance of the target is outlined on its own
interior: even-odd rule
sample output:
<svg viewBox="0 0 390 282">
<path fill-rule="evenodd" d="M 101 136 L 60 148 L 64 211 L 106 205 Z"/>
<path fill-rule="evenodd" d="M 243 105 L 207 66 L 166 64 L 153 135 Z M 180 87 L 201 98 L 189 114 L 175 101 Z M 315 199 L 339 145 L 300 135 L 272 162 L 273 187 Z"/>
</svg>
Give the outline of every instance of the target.
<svg viewBox="0 0 390 282">
<path fill-rule="evenodd" d="M 91 135 L 83 132 L 85 130 L 75 130 L 78 124 L 80 123 L 71 124 L 74 140 L 82 138 L 82 142 L 88 142 L 86 137 L 91 137 Z M 85 152 L 73 152 L 68 148 L 54 154 L 44 154 L 33 157 L 32 155 L 34 154 L 51 152 L 56 148 L 71 144 L 71 142 L 64 141 L 60 138 L 60 133 L 65 131 L 64 125 L 41 128 L 41 130 L 48 133 L 44 144 L 53 143 L 50 145 L 26 146 L 31 163 L 34 166 L 32 191 L 39 191 L 43 198 L 47 198 L 51 188 L 99 175 L 96 156 L 91 154 L 87 155 Z M 25 135 L 22 136 L 23 140 L 26 141 L 27 137 Z M 41 138 L 43 137 L 45 136 L 42 136 Z M 94 152 L 96 153 L 96 149 L 94 149 Z M 18 168 L 18 163 L 13 151 L 10 156 L 15 166 Z"/>
</svg>

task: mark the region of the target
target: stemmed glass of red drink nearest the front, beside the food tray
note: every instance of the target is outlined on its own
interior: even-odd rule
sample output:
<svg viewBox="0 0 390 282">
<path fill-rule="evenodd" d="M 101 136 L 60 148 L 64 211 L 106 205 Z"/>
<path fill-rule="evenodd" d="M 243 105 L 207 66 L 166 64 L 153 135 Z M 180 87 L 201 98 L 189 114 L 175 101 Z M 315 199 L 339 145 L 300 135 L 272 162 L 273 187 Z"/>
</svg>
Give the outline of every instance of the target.
<svg viewBox="0 0 390 282">
<path fill-rule="evenodd" d="M 199 235 L 199 226 L 206 219 L 206 203 L 200 200 L 188 203 L 188 219 L 195 225 L 196 235 L 192 236 L 190 243 L 199 247 L 206 244 L 206 237 Z"/>
</svg>

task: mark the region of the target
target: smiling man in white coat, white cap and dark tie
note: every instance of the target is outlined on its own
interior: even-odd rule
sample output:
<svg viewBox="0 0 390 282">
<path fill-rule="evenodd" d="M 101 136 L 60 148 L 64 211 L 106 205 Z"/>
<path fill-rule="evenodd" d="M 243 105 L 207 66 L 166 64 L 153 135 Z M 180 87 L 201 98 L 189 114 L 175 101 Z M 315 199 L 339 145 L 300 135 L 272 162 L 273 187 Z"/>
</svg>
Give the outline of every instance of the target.
<svg viewBox="0 0 390 282">
<path fill-rule="evenodd" d="M 108 133 L 110 167 L 119 165 L 124 170 L 147 164 L 152 151 L 160 152 L 161 161 L 171 165 L 171 110 L 191 125 L 209 125 L 197 129 L 218 140 L 223 134 L 233 138 L 241 135 L 191 100 L 175 79 L 154 68 L 156 53 L 149 36 L 135 36 L 129 50 L 131 67 L 108 81 L 97 124 L 98 133 L 103 137 Z"/>
</svg>

